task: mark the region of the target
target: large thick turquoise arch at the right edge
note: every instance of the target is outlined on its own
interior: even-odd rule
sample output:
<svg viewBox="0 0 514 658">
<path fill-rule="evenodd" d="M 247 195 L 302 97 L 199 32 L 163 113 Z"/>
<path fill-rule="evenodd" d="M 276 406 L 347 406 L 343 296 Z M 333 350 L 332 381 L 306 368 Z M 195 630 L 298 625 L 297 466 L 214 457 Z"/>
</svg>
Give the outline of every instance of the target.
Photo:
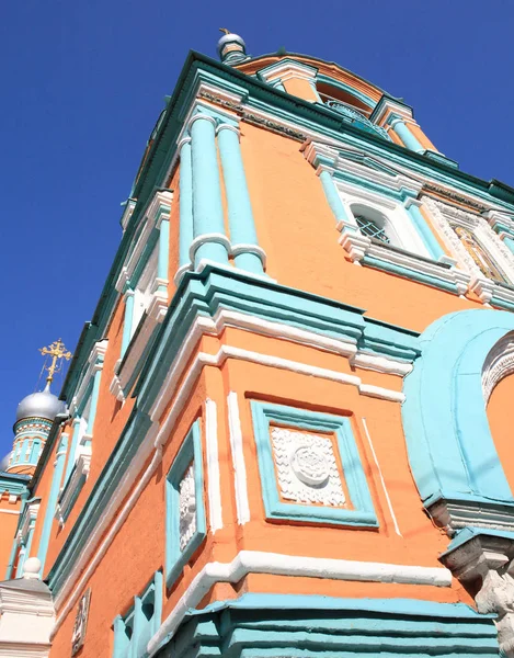
<svg viewBox="0 0 514 658">
<path fill-rule="evenodd" d="M 411 469 L 429 506 L 438 498 L 513 502 L 489 429 L 482 366 L 514 330 L 514 315 L 464 310 L 433 322 L 406 377 L 403 429 Z"/>
</svg>

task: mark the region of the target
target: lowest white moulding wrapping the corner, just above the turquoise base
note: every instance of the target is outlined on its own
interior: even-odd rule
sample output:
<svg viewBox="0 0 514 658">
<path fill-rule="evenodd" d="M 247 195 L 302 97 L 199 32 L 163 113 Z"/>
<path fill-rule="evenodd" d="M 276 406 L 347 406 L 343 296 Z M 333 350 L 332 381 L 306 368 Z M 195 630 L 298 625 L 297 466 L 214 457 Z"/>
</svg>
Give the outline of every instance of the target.
<svg viewBox="0 0 514 658">
<path fill-rule="evenodd" d="M 443 567 L 391 565 L 350 559 L 283 555 L 263 551 L 240 551 L 230 563 L 208 563 L 195 576 L 175 608 L 147 645 L 153 656 L 179 628 L 187 610 L 195 608 L 217 582 L 239 582 L 249 574 L 299 578 L 322 578 L 359 582 L 397 582 L 450 587 L 452 571 Z"/>
</svg>

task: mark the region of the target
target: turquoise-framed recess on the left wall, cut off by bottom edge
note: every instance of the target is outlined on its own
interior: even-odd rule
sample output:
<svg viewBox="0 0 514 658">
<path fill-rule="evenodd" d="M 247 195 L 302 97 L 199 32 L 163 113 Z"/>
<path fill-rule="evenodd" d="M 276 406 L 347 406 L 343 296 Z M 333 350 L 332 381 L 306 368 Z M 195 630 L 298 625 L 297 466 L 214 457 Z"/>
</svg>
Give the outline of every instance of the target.
<svg viewBox="0 0 514 658">
<path fill-rule="evenodd" d="M 162 617 L 162 574 L 156 571 L 142 594 L 134 597 L 134 604 L 125 616 L 114 620 L 113 658 L 144 658 L 147 645 L 159 629 Z"/>
</svg>

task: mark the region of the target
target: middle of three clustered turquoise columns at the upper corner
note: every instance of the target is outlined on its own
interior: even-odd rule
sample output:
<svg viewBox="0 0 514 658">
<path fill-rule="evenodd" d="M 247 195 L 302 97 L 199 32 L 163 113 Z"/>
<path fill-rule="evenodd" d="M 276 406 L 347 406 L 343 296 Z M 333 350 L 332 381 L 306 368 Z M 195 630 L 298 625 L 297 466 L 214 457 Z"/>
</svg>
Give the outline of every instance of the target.
<svg viewBox="0 0 514 658">
<path fill-rule="evenodd" d="M 228 264 L 225 236 L 221 189 L 216 152 L 216 122 L 206 114 L 195 114 L 191 120 L 191 148 L 193 166 L 193 229 L 199 246 L 195 265 L 202 259 Z M 205 237 L 205 241 L 202 238 Z"/>
</svg>

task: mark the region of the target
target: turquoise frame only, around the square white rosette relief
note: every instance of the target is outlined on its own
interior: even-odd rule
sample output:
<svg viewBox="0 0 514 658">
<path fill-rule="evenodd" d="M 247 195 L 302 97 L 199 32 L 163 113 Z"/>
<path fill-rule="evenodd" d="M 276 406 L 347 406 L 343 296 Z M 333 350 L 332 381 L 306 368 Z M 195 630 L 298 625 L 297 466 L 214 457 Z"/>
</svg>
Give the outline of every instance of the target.
<svg viewBox="0 0 514 658">
<path fill-rule="evenodd" d="M 350 418 L 255 400 L 251 402 L 251 408 L 264 509 L 267 519 L 290 519 L 292 521 L 336 525 L 378 526 Z M 293 430 L 335 435 L 352 509 L 289 503 L 281 499 L 270 436 L 270 426 L 272 423 Z"/>
</svg>

